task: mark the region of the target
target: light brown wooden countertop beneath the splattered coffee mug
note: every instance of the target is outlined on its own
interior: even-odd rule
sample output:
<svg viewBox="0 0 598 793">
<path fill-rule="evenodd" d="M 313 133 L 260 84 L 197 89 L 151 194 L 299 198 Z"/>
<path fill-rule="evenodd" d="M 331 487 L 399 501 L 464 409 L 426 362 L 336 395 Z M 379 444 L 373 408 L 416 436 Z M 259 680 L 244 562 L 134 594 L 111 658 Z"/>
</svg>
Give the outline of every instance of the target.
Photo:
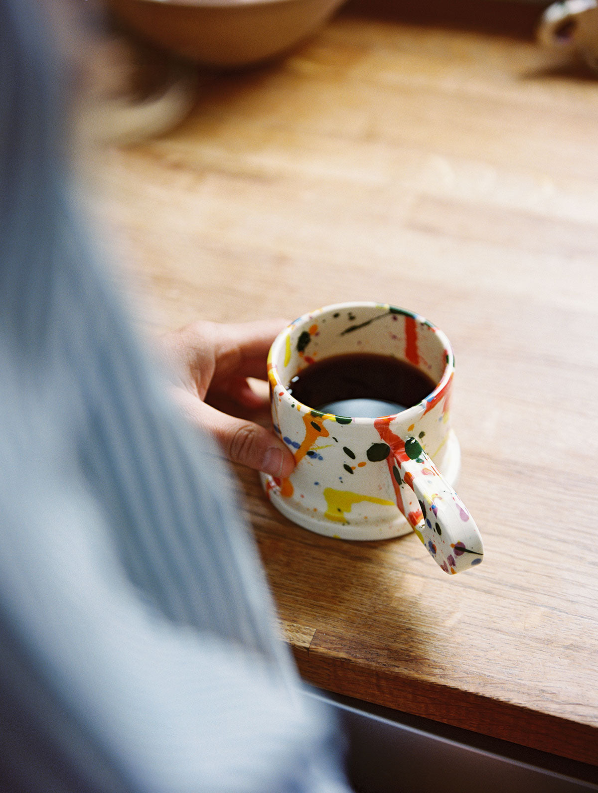
<svg viewBox="0 0 598 793">
<path fill-rule="evenodd" d="M 316 686 L 598 765 L 598 83 L 530 6 L 365 7 L 112 151 L 106 214 L 156 329 L 365 299 L 447 332 L 484 564 L 312 534 L 239 470 L 286 638 Z"/>
</svg>

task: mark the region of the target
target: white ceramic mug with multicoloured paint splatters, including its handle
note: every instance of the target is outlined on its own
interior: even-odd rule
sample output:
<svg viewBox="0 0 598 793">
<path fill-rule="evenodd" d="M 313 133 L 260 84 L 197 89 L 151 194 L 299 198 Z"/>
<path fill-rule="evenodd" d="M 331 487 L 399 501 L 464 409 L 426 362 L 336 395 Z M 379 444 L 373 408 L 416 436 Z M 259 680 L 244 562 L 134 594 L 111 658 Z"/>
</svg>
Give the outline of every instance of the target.
<svg viewBox="0 0 598 793">
<path fill-rule="evenodd" d="M 355 353 L 399 358 L 435 383 L 418 404 L 391 416 L 339 416 L 301 404 L 293 377 L 326 358 Z M 268 378 L 274 431 L 297 463 L 288 479 L 262 475 L 283 515 L 319 534 L 352 540 L 415 531 L 447 573 L 481 562 L 483 546 L 453 486 L 461 452 L 450 427 L 454 356 L 424 317 L 388 304 L 320 308 L 274 340 Z"/>
</svg>

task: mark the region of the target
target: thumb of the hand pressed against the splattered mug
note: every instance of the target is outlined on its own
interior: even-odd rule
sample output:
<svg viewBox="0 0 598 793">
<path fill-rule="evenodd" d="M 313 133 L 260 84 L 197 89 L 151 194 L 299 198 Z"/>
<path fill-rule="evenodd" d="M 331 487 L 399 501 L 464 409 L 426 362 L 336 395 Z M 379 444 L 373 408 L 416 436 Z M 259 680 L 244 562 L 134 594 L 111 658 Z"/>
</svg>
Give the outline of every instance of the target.
<svg viewBox="0 0 598 793">
<path fill-rule="evenodd" d="M 177 389 L 175 398 L 187 418 L 212 435 L 232 462 L 273 477 L 288 477 L 295 467 L 293 454 L 274 432 L 252 421 L 228 416 L 186 390 Z"/>
</svg>

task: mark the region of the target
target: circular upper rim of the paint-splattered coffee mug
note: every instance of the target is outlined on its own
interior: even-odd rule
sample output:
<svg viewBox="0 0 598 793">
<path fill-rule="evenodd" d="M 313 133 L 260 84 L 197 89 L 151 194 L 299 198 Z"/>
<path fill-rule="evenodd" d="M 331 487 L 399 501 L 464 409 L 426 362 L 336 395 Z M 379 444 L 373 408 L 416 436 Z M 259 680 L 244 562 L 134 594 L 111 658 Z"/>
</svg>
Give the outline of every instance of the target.
<svg viewBox="0 0 598 793">
<path fill-rule="evenodd" d="M 409 311 L 408 308 L 401 308 L 400 306 L 393 305 L 391 303 L 378 303 L 376 301 L 347 301 L 343 303 L 333 303 L 331 305 L 324 305 L 320 308 L 316 308 L 314 311 L 306 312 L 305 314 L 301 314 L 298 316 L 296 320 L 293 320 L 290 324 L 283 328 L 282 331 L 276 336 L 272 345 L 270 347 L 270 351 L 268 352 L 268 380 L 270 381 L 270 385 L 273 385 L 276 389 L 282 389 L 282 394 L 279 393 L 278 396 L 281 397 L 282 400 L 285 400 L 286 403 L 289 404 L 289 407 L 293 407 L 293 409 L 299 409 L 300 412 L 312 412 L 317 416 L 335 416 L 335 413 L 324 413 L 316 408 L 311 408 L 309 405 L 304 404 L 297 397 L 293 397 L 291 393 L 287 390 L 286 385 L 284 385 L 281 381 L 281 378 L 278 374 L 278 366 L 276 362 L 274 362 L 274 358 L 282 352 L 282 345 L 286 343 L 286 335 L 290 333 L 292 328 L 296 328 L 297 325 L 306 324 L 308 322 L 312 322 L 318 316 L 322 316 L 322 314 L 328 314 L 330 312 L 336 311 L 343 311 L 343 310 L 351 310 L 353 308 L 386 308 L 393 313 L 402 314 L 403 316 L 411 316 L 414 320 L 419 322 L 420 324 L 426 325 L 431 331 L 434 331 L 435 335 L 438 336 L 439 340 L 443 343 L 444 350 L 447 353 L 447 360 L 444 364 L 443 374 L 441 375 L 437 385 L 435 388 L 424 397 L 423 400 L 417 402 L 416 404 L 412 405 L 410 408 L 406 408 L 397 413 L 389 413 L 386 416 L 374 416 L 367 418 L 364 416 L 339 416 L 341 419 L 351 419 L 351 423 L 362 424 L 366 426 L 370 426 L 374 423 L 374 421 L 379 421 L 380 419 L 393 419 L 397 420 L 399 417 L 401 421 L 408 420 L 408 419 L 417 419 L 424 409 L 426 411 L 427 404 L 432 402 L 437 402 L 442 397 L 442 394 L 446 391 L 448 385 L 450 384 L 451 378 L 453 377 L 454 373 L 454 352 L 453 347 L 450 344 L 447 335 L 440 330 L 440 328 L 431 323 L 430 320 L 427 320 L 421 314 L 417 314 L 416 312 Z M 325 360 L 325 358 L 322 358 Z M 274 383 L 272 382 L 274 380 Z M 292 403 L 292 404 L 291 404 Z M 412 423 L 412 420 L 409 420 L 409 423 Z"/>
</svg>

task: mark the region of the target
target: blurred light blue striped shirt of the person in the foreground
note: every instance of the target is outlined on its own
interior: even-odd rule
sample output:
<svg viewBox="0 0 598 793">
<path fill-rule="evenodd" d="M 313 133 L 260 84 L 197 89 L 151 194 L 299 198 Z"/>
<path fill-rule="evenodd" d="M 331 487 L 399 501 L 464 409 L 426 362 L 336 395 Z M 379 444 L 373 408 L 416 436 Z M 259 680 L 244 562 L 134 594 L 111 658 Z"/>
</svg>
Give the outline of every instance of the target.
<svg viewBox="0 0 598 793">
<path fill-rule="evenodd" d="M 0 0 L 0 789 L 346 791 L 209 439 L 73 204 L 39 0 Z"/>
</svg>

